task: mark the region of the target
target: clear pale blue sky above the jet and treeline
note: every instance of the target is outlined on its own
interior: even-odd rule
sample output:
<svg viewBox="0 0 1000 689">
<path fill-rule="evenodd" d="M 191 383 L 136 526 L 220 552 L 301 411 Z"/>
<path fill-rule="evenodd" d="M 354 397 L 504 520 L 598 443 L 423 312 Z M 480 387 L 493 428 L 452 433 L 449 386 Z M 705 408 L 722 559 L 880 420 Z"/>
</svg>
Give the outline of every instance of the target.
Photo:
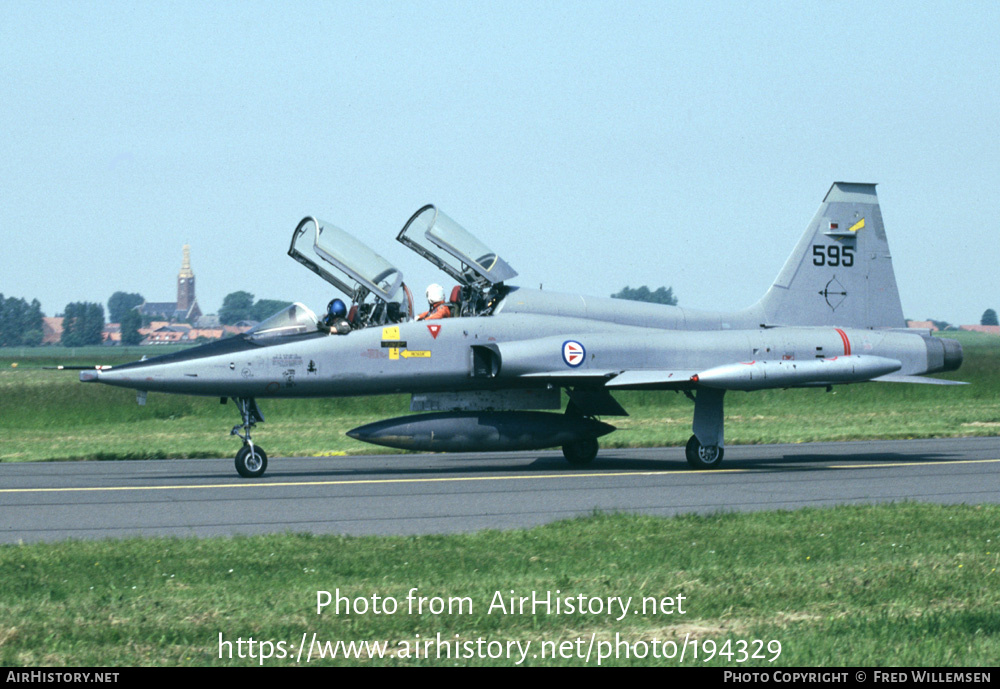
<svg viewBox="0 0 1000 689">
<path fill-rule="evenodd" d="M 435 203 L 519 271 L 747 306 L 835 180 L 878 182 L 903 310 L 1000 309 L 996 3 L 0 0 L 0 292 L 319 309 L 316 215 Z"/>
</svg>

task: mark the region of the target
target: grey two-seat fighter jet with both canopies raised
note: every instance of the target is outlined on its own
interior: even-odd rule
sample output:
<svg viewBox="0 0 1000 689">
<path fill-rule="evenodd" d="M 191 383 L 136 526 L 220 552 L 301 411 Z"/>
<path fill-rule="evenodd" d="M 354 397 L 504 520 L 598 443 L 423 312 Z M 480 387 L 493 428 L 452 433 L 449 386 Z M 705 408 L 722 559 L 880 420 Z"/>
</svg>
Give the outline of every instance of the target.
<svg viewBox="0 0 1000 689">
<path fill-rule="evenodd" d="M 310 216 L 288 254 L 347 298 L 346 313 L 320 318 L 296 303 L 242 335 L 80 379 L 134 388 L 140 403 L 150 391 L 232 399 L 236 470 L 253 478 L 267 469 L 251 438 L 264 398 L 409 393 L 421 413 L 348 435 L 432 452 L 561 447 L 586 465 L 614 430 L 598 417 L 627 416 L 616 390 L 680 391 L 694 402 L 687 461 L 711 469 L 724 454 L 729 390 L 949 384 L 922 376 L 962 363 L 955 340 L 905 327 L 874 184 L 835 182 L 774 284 L 739 311 L 514 286 L 510 265 L 432 205 L 397 240 L 455 284 L 450 318 L 416 319 L 395 266 Z"/>
</svg>

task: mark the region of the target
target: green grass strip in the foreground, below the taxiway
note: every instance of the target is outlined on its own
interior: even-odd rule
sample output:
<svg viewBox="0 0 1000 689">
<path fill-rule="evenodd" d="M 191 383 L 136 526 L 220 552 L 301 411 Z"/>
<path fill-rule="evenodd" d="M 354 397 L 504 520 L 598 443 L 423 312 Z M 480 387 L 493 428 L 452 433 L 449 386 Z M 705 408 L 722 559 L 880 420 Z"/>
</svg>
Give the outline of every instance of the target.
<svg viewBox="0 0 1000 689">
<path fill-rule="evenodd" d="M 993 666 L 1000 507 L 897 504 L 670 519 L 595 515 L 471 535 L 275 535 L 0 547 L 4 665 L 256 664 L 218 639 L 298 645 L 445 638 L 781 643 L 774 666 Z M 467 614 L 411 615 L 412 587 Z M 316 614 L 318 590 L 392 597 L 396 614 Z M 685 598 L 685 614 L 489 613 L 496 592 Z M 234 644 L 235 646 L 235 644 Z M 586 648 L 586 644 L 584 646 Z M 303 656 L 304 657 L 304 656 Z M 702 651 L 701 658 L 704 658 Z M 771 654 L 768 654 L 771 657 Z M 330 663 L 330 661 L 327 661 Z M 273 659 L 269 665 L 290 665 Z M 438 664 L 400 657 L 364 665 Z M 684 665 L 691 659 L 690 647 Z M 338 661 L 332 664 L 352 664 Z M 442 660 L 451 665 L 512 665 Z M 527 664 L 583 665 L 579 659 Z M 590 665 L 596 664 L 592 658 Z M 619 659 L 605 664 L 678 664 Z M 769 666 L 716 658 L 709 665 Z"/>
</svg>

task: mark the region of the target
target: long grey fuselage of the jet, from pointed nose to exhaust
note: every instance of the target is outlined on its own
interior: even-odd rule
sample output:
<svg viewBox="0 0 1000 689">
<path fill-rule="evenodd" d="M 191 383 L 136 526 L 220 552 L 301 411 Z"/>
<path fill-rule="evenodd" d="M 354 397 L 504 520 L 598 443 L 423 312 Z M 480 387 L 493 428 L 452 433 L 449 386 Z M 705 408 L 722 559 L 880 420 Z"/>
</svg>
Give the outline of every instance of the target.
<svg viewBox="0 0 1000 689">
<path fill-rule="evenodd" d="M 671 316 L 671 307 L 643 307 L 662 319 Z M 712 320 L 718 322 L 716 316 Z M 84 371 L 81 380 L 151 392 L 287 398 L 544 387 L 553 379 L 584 388 L 606 383 L 614 387 L 620 374 L 627 372 L 638 380 L 644 370 L 676 371 L 681 377 L 651 380 L 642 387 L 677 388 L 690 385 L 690 375 L 733 362 L 807 362 L 852 355 L 899 361 L 901 375 L 952 368 L 945 361 L 941 340 L 896 330 L 669 330 L 524 312 L 413 321 L 347 335 L 316 333 L 287 340 L 247 342 L 221 354 L 207 345 L 181 356 Z M 566 343 L 579 346 L 577 358 L 564 352 Z M 498 358 L 497 370 L 477 375 L 476 348 Z"/>
</svg>

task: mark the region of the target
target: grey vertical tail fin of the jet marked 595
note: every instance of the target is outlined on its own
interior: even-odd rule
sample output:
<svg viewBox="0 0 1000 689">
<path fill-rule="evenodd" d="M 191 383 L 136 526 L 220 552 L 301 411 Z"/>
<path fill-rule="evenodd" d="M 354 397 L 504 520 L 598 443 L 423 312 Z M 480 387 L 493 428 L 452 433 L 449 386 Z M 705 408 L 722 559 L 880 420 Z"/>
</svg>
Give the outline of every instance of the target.
<svg viewBox="0 0 1000 689">
<path fill-rule="evenodd" d="M 770 325 L 906 326 L 874 184 L 833 183 L 757 308 Z"/>
</svg>

